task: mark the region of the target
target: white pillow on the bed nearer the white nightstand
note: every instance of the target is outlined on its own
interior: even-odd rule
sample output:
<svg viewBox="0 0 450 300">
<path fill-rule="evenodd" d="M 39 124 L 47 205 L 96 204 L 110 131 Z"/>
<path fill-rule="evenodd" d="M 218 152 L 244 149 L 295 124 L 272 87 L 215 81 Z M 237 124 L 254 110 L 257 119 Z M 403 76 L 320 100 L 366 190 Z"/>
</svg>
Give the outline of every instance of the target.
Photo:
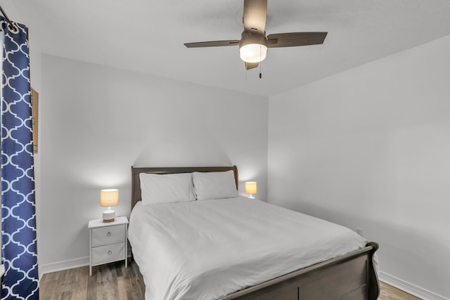
<svg viewBox="0 0 450 300">
<path fill-rule="evenodd" d="M 139 174 L 142 204 L 188 202 L 195 200 L 191 173 Z"/>
</svg>

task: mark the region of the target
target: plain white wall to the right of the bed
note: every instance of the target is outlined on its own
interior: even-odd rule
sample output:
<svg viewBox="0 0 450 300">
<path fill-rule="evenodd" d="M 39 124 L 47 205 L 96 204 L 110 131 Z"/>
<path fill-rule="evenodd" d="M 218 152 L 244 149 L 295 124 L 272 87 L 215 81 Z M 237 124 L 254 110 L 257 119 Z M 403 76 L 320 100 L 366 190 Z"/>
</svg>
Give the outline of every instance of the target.
<svg viewBox="0 0 450 300">
<path fill-rule="evenodd" d="M 269 202 L 361 227 L 450 298 L 450 36 L 269 99 Z M 389 276 L 390 275 L 390 276 Z"/>
</svg>

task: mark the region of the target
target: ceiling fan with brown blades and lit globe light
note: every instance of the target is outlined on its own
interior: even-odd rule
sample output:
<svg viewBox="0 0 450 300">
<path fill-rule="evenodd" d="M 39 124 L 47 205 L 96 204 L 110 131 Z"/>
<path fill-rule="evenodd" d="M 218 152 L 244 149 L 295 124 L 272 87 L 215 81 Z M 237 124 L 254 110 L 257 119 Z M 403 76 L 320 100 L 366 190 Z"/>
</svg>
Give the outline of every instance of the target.
<svg viewBox="0 0 450 300">
<path fill-rule="evenodd" d="M 244 31 L 240 40 L 200 41 L 186 43 L 188 48 L 239 46 L 245 69 L 257 67 L 266 58 L 267 48 L 295 47 L 323 44 L 328 32 L 290 32 L 266 36 L 267 0 L 244 0 Z"/>
</svg>

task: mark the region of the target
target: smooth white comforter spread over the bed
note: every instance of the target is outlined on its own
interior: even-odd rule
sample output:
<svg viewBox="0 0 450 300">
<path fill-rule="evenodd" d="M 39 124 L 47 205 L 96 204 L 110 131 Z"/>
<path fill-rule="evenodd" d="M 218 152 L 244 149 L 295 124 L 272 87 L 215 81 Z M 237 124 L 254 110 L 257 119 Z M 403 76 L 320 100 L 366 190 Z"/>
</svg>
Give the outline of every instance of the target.
<svg viewBox="0 0 450 300">
<path fill-rule="evenodd" d="M 139 202 L 129 241 L 147 300 L 219 299 L 366 245 L 348 228 L 246 197 Z"/>
</svg>

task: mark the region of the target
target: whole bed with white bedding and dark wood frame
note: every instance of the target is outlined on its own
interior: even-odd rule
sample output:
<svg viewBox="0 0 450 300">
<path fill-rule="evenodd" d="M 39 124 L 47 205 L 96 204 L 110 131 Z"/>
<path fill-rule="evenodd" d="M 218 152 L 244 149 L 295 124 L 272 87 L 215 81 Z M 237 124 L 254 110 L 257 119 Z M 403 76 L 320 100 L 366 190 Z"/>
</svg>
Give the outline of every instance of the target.
<svg viewBox="0 0 450 300">
<path fill-rule="evenodd" d="M 214 183 L 195 178 L 198 199 L 148 205 L 141 183 L 141 174 L 230 172 L 237 193 L 236 166 L 131 167 L 129 240 L 147 300 L 378 298 L 378 244 L 352 230 L 226 191 L 212 199 Z"/>
</svg>

